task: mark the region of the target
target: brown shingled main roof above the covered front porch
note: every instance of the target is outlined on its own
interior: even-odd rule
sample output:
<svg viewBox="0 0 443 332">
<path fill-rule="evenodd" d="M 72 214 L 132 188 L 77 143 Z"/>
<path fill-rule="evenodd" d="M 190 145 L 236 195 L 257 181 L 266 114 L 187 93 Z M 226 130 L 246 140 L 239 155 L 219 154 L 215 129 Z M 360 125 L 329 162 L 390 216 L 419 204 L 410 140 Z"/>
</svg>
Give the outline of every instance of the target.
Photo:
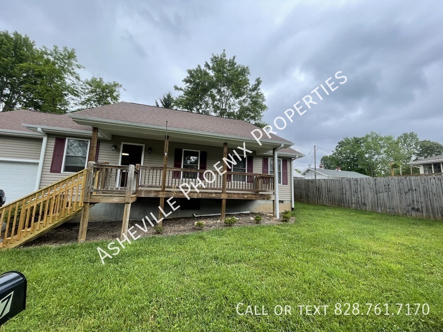
<svg viewBox="0 0 443 332">
<path fill-rule="evenodd" d="M 243 120 L 221 118 L 212 115 L 203 115 L 124 101 L 90 110 L 73 112 L 71 114 L 73 116 L 127 121 L 157 126 L 165 126 L 166 121 L 168 121 L 169 128 L 248 138 L 253 138 L 251 131 L 258 128 Z M 272 140 L 276 142 L 290 142 L 275 135 L 271 136 Z M 268 139 L 265 135 L 263 139 L 264 138 Z"/>
</svg>

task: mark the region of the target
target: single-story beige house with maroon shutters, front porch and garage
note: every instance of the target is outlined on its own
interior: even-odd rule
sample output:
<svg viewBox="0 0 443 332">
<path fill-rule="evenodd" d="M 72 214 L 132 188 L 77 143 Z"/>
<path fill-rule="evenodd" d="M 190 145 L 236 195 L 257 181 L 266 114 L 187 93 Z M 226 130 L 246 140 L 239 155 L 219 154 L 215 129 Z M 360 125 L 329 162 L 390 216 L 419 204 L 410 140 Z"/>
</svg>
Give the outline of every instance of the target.
<svg viewBox="0 0 443 332">
<path fill-rule="evenodd" d="M 278 215 L 293 208 L 292 160 L 303 154 L 276 135 L 258 142 L 254 129 L 246 121 L 129 102 L 66 115 L 2 112 L 0 189 L 8 201 L 0 215 L 21 200 L 29 208 L 17 216 L 25 235 L 34 232 L 28 220 L 64 221 L 74 211 L 84 225 L 122 215 L 124 223 L 141 220 L 159 207 L 159 220 L 220 211 Z M 180 208 L 168 213 L 171 196 Z M 45 204 L 47 211 L 35 212 Z M 15 232 L 9 237 L 20 237 Z"/>
</svg>

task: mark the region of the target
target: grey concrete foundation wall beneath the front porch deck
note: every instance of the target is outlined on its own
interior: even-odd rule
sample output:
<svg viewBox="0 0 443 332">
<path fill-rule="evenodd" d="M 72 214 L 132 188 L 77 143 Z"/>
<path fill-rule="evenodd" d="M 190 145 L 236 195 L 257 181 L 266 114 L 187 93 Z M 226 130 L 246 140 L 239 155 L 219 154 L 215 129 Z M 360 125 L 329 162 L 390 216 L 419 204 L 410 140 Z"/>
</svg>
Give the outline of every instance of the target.
<svg viewBox="0 0 443 332">
<path fill-rule="evenodd" d="M 192 200 L 192 199 L 191 199 Z M 164 202 L 164 212 L 169 213 L 166 219 L 177 218 L 177 217 L 191 217 L 193 213 L 195 214 L 210 214 L 210 213 L 220 213 L 221 211 L 221 199 L 201 199 L 199 210 L 184 210 L 185 203 L 180 198 L 174 198 L 171 203 L 176 201 L 174 207 L 181 205 L 181 208 L 176 211 L 172 211 L 169 204 Z M 141 220 L 145 215 L 148 215 L 151 220 L 151 212 L 158 218 L 158 205 L 160 203 L 159 198 L 149 198 L 140 197 L 138 200 L 131 205 L 130 220 Z M 89 221 L 122 221 L 123 219 L 123 209 L 124 204 L 120 203 L 99 203 L 95 204 L 91 208 L 89 215 Z M 284 201 L 280 203 L 280 211 L 291 209 L 291 202 Z M 251 211 L 254 212 L 265 212 L 272 213 L 272 201 L 261 201 L 261 200 L 226 200 L 226 212 L 240 212 L 240 211 Z M 80 216 L 72 219 L 73 222 L 78 222 Z"/>
</svg>

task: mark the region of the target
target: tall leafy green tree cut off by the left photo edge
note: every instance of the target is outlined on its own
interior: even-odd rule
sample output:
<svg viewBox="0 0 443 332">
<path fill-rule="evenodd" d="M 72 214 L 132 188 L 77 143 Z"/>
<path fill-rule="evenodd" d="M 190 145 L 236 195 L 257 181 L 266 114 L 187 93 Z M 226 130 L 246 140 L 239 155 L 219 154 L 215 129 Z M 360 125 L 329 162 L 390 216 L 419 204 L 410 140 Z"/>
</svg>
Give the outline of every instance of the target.
<svg viewBox="0 0 443 332">
<path fill-rule="evenodd" d="M 30 98 L 29 87 L 42 55 L 20 33 L 0 31 L 0 112 L 12 111 Z"/>
</svg>

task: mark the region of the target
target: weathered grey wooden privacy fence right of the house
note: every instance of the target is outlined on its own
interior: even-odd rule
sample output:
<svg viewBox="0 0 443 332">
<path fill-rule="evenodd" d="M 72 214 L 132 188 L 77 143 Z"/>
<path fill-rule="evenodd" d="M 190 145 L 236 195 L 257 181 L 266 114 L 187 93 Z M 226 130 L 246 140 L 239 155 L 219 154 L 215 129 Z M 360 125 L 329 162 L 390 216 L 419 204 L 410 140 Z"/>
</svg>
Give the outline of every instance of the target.
<svg viewBox="0 0 443 332">
<path fill-rule="evenodd" d="M 294 180 L 294 200 L 443 219 L 443 175 Z"/>
</svg>

